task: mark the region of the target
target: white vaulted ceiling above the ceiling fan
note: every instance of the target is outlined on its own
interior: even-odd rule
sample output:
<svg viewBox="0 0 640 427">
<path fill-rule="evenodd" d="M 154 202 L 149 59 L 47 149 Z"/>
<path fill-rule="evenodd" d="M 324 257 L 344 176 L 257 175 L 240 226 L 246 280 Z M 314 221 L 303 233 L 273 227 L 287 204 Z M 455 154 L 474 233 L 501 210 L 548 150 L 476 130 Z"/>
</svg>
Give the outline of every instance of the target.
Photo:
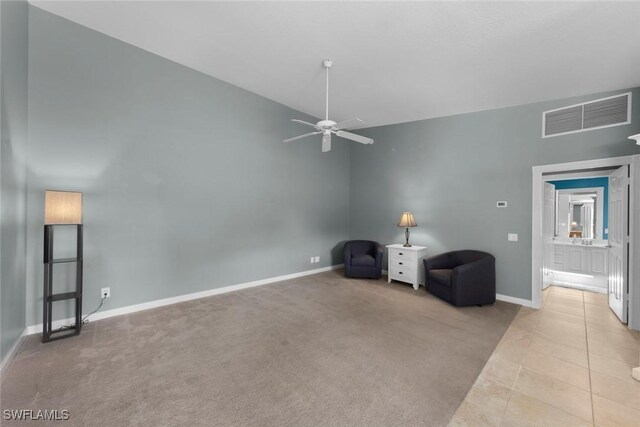
<svg viewBox="0 0 640 427">
<path fill-rule="evenodd" d="M 640 86 L 640 3 L 92 2 L 37 7 L 316 117 L 366 126 Z"/>
</svg>

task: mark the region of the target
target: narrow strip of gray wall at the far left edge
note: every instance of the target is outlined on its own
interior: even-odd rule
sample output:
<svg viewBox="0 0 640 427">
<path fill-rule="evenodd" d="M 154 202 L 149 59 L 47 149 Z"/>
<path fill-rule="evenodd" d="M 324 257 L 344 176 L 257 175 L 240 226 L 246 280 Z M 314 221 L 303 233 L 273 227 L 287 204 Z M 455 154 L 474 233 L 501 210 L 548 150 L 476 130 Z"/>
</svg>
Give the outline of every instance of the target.
<svg viewBox="0 0 640 427">
<path fill-rule="evenodd" d="M 25 327 L 28 5 L 0 2 L 0 359 Z"/>
</svg>

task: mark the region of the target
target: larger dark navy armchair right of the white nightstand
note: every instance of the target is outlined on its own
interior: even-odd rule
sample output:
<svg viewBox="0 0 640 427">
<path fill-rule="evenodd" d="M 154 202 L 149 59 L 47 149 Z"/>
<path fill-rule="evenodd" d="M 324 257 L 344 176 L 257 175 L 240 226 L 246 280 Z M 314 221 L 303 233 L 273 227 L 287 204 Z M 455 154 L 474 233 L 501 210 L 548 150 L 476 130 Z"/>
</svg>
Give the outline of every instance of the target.
<svg viewBox="0 0 640 427">
<path fill-rule="evenodd" d="M 486 252 L 447 252 L 424 261 L 426 288 L 456 306 L 496 301 L 496 259 Z"/>
</svg>

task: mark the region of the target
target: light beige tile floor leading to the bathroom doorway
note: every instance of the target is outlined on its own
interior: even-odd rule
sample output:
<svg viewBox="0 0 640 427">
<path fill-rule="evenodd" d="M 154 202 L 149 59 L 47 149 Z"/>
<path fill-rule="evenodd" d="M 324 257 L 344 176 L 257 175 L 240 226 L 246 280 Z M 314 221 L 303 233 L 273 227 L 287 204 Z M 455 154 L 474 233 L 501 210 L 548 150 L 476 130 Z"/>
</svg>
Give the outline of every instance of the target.
<svg viewBox="0 0 640 427">
<path fill-rule="evenodd" d="M 551 286 L 522 308 L 450 426 L 640 426 L 640 333 L 607 296 Z"/>
</svg>

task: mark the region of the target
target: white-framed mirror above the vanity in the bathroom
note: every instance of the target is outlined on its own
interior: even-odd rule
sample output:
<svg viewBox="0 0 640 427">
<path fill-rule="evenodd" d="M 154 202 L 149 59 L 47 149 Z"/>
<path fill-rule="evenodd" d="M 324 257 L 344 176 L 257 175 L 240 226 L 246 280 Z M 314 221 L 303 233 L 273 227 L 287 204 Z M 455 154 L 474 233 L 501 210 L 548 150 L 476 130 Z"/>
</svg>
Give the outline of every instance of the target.
<svg viewBox="0 0 640 427">
<path fill-rule="evenodd" d="M 556 191 L 556 236 L 569 239 L 604 239 L 603 189 Z"/>
</svg>

